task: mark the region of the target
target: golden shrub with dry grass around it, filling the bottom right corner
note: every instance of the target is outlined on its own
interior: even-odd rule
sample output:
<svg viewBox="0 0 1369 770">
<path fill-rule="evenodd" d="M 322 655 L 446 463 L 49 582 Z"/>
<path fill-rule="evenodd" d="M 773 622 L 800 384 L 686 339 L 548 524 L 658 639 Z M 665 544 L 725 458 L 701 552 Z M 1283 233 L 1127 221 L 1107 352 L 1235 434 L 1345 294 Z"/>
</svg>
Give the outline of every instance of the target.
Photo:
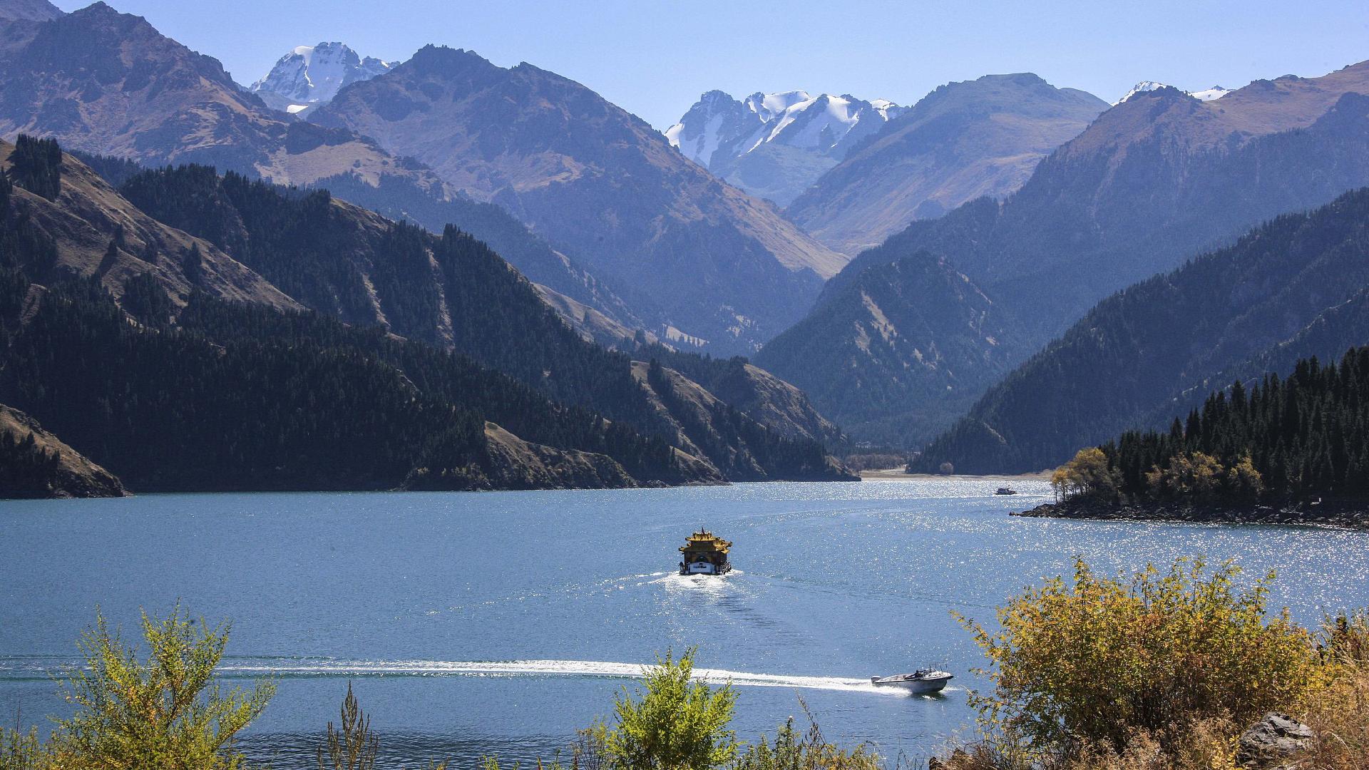
<svg viewBox="0 0 1369 770">
<path fill-rule="evenodd" d="M 1180 559 L 1131 580 L 1046 581 L 998 611 L 1001 630 L 962 622 L 994 684 L 973 693 L 980 740 L 951 770 L 1235 769 L 1238 737 L 1268 712 L 1318 736 L 1305 770 L 1369 767 L 1369 617 L 1313 633 L 1266 607 L 1273 575 Z"/>
</svg>

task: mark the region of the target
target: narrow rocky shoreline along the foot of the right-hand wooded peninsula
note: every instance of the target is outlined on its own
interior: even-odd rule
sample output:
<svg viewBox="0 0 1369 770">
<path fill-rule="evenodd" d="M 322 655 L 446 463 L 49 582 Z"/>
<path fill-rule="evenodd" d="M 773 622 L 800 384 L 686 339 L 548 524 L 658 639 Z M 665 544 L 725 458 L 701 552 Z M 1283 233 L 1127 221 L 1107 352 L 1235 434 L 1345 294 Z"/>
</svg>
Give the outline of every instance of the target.
<svg viewBox="0 0 1369 770">
<path fill-rule="evenodd" d="M 1369 500 L 1298 500 L 1281 504 L 1099 503 L 1066 500 L 1013 512 L 1055 519 L 1116 519 L 1195 523 L 1285 523 L 1369 529 Z"/>
</svg>

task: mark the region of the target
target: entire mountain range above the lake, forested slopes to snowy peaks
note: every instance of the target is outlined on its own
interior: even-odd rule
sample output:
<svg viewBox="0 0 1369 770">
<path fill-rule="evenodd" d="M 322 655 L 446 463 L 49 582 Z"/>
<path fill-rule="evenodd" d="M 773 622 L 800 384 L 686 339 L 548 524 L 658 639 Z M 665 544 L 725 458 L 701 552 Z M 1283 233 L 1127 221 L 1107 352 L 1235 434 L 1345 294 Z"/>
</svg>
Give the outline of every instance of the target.
<svg viewBox="0 0 1369 770">
<path fill-rule="evenodd" d="M 1320 264 L 1306 244 L 1335 240 L 1327 216 L 1294 226 L 1288 212 L 1369 185 L 1369 63 L 1235 90 L 1143 81 L 1112 107 L 1032 74 L 947 84 L 906 108 L 709 92 L 665 132 L 556 73 L 437 45 L 397 63 L 300 47 L 244 88 L 104 3 L 0 0 L 0 136 L 25 136 L 0 149 L 15 185 L 0 401 L 134 488 L 208 482 L 188 466 L 140 475 L 119 467 L 131 434 L 99 440 L 118 433 L 108 419 L 152 419 L 162 433 L 138 440 L 153 449 L 190 430 L 99 412 L 101 388 L 204 408 L 157 385 L 181 374 L 137 356 L 183 355 L 194 397 L 218 395 L 204 380 L 218 348 L 244 373 L 298 347 L 300 367 L 281 371 L 301 382 L 364 378 L 338 399 L 374 399 L 394 425 L 348 434 L 381 452 L 367 485 L 678 484 L 835 478 L 823 445 L 938 434 L 925 462 L 1035 467 L 1095 440 L 1065 414 L 1072 393 L 1105 434 L 1162 422 L 1213 378 L 1358 341 L 1365 314 L 1353 266 L 1332 286 L 1247 252 L 1198 260 L 1217 266 L 1203 281 L 1232 281 L 1227 310 L 1246 308 L 1201 321 L 1224 330 L 1180 327 L 1192 312 L 1142 299 L 1149 277 L 1190 281 L 1187 260 L 1225 247 L 1283 243 Z M 1280 215 L 1270 227 L 1298 237 L 1238 244 Z M 1238 280 L 1246 264 L 1264 284 Z M 1144 307 L 1117 311 L 1127 296 Z M 1097 366 L 1124 356 L 1077 340 L 1114 316 L 1212 349 L 1150 360 L 1158 343 L 1136 336 L 1153 377 L 1099 386 L 1112 374 Z M 1108 323 L 1080 332 L 1080 318 Z M 52 356 L 53 340 L 85 349 L 88 333 L 108 351 Z M 141 369 L 78 366 L 118 370 L 116 349 Z M 1088 356 L 1094 369 L 1075 360 Z M 82 378 L 97 385 L 74 406 L 48 388 Z M 304 441 L 308 404 L 268 378 L 238 382 L 237 412 L 199 414 L 248 441 L 264 410 Z M 1021 393 L 1043 389 L 1034 411 Z M 340 482 L 316 452 L 274 475 L 223 452 L 227 486 L 253 469 L 282 488 Z"/>
</svg>

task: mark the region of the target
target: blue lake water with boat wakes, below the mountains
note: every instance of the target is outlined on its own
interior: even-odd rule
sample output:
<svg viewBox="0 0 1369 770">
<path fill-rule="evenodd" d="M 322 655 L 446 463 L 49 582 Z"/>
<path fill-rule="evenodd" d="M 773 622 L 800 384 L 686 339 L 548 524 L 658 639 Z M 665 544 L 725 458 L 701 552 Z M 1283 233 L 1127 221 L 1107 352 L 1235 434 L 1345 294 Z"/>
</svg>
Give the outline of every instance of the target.
<svg viewBox="0 0 1369 770">
<path fill-rule="evenodd" d="M 1369 604 L 1369 533 L 1016 518 L 1049 488 L 999 484 L 4 501 L 0 715 L 62 712 L 51 677 L 97 606 L 127 636 L 140 608 L 179 600 L 233 622 L 230 681 L 278 681 L 244 741 L 274 767 L 312 766 L 348 681 L 385 767 L 550 758 L 641 665 L 689 645 L 738 686 L 743 738 L 802 719 L 802 699 L 830 740 L 920 759 L 967 734 L 982 684 L 951 612 L 991 621 L 1076 556 L 1275 569 L 1273 601 L 1303 622 Z M 701 525 L 732 540 L 731 575 L 674 574 Z M 957 677 L 941 697 L 868 684 L 928 663 Z"/>
</svg>

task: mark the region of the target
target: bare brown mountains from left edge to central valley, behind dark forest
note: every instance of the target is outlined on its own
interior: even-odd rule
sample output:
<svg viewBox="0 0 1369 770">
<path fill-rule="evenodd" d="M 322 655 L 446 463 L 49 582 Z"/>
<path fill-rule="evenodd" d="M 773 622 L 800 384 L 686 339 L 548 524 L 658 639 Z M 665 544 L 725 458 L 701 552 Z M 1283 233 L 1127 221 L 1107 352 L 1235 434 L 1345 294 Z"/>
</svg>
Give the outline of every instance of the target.
<svg viewBox="0 0 1369 770">
<path fill-rule="evenodd" d="M 437 75 L 441 67 L 428 66 L 450 59 L 450 53 L 456 52 L 426 49 L 416 62 L 340 86 L 340 93 L 352 99 L 346 95 L 353 89 L 378 81 L 386 82 L 376 93 L 404 92 L 415 71 Z M 5 71 L 0 82 L 3 136 L 51 136 L 73 149 L 142 164 L 205 163 L 278 184 L 346 188 L 340 195 L 389 215 L 412 216 L 431 230 L 457 223 L 476 232 L 494 223 L 496 230 L 509 234 L 505 222 L 494 222 L 498 215 L 471 204 L 501 206 L 530 225 L 537 240 L 550 241 L 548 248 L 533 249 L 541 270 L 538 282 L 628 334 L 643 329 L 649 338 L 711 351 L 752 351 L 797 319 L 823 277 L 845 262 L 769 204 L 717 184 L 679 158 L 641 121 L 578 84 L 530 66 L 501 70 L 486 62 L 478 69 L 493 78 L 486 85 L 500 79 L 515 90 L 531 82 L 546 85 L 553 101 L 543 104 L 543 118 L 568 119 L 579 107 L 590 110 L 580 115 L 585 122 L 576 134 L 583 147 L 571 148 L 557 138 L 554 121 L 538 129 L 535 116 L 524 121 L 476 105 L 497 105 L 502 99 L 497 88 L 483 92 L 493 101 L 472 95 L 475 101 L 467 104 L 475 110 L 470 130 L 486 137 L 508 133 L 513 144 L 489 160 L 476 151 L 471 163 L 487 164 L 496 178 L 502 173 L 498 167 L 509 166 L 511 174 L 522 175 L 519 185 L 509 185 L 491 182 L 487 174 L 483 182 L 460 174 L 445 181 L 412 158 L 413 147 L 396 145 L 392 153 L 360 133 L 271 110 L 233 82 L 216 60 L 103 3 L 47 22 L 8 22 L 0 63 Z M 337 108 L 329 110 L 337 123 Z M 360 123 L 367 115 L 348 119 Z M 481 121 L 483 126 L 476 125 Z M 511 126 L 522 130 L 509 133 Z M 379 127 L 368 123 L 367 132 L 393 138 Z M 446 134 L 441 123 L 435 130 Z M 622 137 L 631 141 L 623 144 Z M 453 136 L 438 140 L 460 141 Z M 604 152 L 613 155 L 611 162 Z M 534 156 L 546 163 L 530 160 Z M 448 173 L 461 163 L 460 152 L 450 147 L 427 158 L 441 160 Z M 604 163 L 617 169 L 632 158 L 638 178 L 605 171 Z M 530 166 L 519 170 L 523 160 Z M 563 162 L 579 169 L 574 181 L 553 170 Z M 561 206 L 563 196 L 583 208 Z M 769 290 L 734 289 L 742 285 Z M 682 286 L 690 290 L 680 292 Z M 586 333 L 594 336 L 597 329 Z"/>
</svg>

